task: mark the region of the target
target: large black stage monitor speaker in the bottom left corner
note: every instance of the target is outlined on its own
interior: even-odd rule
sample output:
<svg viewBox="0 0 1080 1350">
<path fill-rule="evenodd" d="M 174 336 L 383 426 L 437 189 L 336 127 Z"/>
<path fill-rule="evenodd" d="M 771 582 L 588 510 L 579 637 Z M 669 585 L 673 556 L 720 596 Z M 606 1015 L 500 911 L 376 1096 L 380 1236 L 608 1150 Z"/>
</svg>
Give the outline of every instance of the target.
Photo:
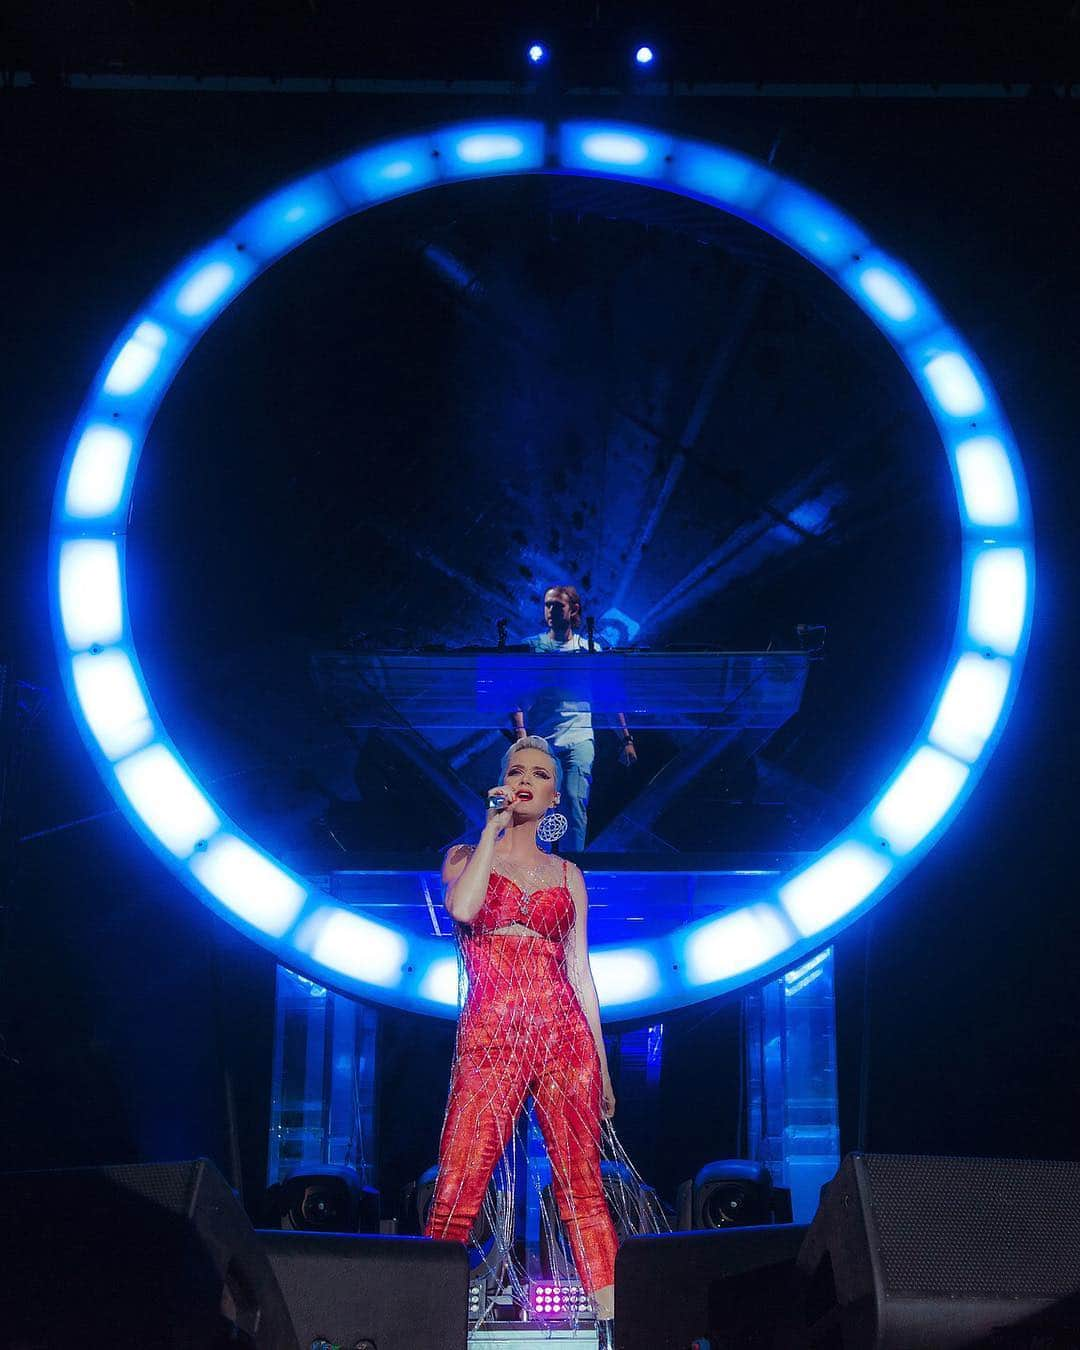
<svg viewBox="0 0 1080 1350">
<path fill-rule="evenodd" d="M 255 1230 L 205 1158 L 0 1174 L 0 1346 L 296 1350 Z"/>
</svg>

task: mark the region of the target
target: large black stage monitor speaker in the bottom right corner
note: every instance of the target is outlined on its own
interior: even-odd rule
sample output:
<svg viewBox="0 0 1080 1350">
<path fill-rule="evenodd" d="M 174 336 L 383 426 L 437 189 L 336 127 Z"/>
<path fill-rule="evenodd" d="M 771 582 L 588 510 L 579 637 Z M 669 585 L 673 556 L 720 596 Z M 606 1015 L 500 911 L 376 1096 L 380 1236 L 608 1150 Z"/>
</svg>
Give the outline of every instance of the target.
<svg viewBox="0 0 1080 1350">
<path fill-rule="evenodd" d="M 798 1270 L 792 1346 L 1080 1346 L 1080 1164 L 853 1153 Z"/>
</svg>

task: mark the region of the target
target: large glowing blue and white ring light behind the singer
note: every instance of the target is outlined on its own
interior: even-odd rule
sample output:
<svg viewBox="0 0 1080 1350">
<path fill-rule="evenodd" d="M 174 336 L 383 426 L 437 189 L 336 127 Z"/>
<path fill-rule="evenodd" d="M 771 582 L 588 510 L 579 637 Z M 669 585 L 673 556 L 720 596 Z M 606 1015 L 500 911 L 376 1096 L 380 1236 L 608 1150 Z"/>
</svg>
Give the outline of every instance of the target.
<svg viewBox="0 0 1080 1350">
<path fill-rule="evenodd" d="M 186 258 L 105 358 L 72 431 L 53 513 L 50 586 L 59 664 L 82 736 L 135 829 L 204 903 L 312 979 L 363 998 L 456 1014 L 446 942 L 351 911 L 275 861 L 200 787 L 154 710 L 126 597 L 126 531 L 139 452 L 200 335 L 273 262 L 392 197 L 494 174 L 625 180 L 732 212 L 790 244 L 892 343 L 953 470 L 963 567 L 953 648 L 914 745 L 878 796 L 765 900 L 651 942 L 598 946 L 609 1015 L 710 998 L 790 965 L 880 900 L 959 811 L 1019 680 L 1034 583 L 1031 517 L 1004 413 L 926 289 L 836 207 L 729 150 L 602 122 L 493 120 L 360 150 L 292 182 Z M 374 890 L 378 879 L 369 883 Z"/>
</svg>

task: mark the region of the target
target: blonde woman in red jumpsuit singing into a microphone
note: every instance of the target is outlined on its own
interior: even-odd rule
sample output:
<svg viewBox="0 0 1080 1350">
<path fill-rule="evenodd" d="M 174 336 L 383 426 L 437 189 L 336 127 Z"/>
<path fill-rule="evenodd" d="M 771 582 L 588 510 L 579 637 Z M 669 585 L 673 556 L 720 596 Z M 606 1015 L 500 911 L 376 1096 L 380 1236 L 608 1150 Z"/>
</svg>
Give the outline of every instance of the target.
<svg viewBox="0 0 1080 1350">
<path fill-rule="evenodd" d="M 601 1184 L 601 1120 L 616 1102 L 589 968 L 582 873 L 537 846 L 563 817 L 547 741 L 506 752 L 475 848 L 443 865 L 468 992 L 458 1022 L 439 1179 L 427 1235 L 466 1242 L 491 1172 L 531 1095 L 574 1265 L 597 1318 L 614 1315 L 616 1231 Z M 543 822 L 543 825 L 541 825 Z"/>
</svg>

